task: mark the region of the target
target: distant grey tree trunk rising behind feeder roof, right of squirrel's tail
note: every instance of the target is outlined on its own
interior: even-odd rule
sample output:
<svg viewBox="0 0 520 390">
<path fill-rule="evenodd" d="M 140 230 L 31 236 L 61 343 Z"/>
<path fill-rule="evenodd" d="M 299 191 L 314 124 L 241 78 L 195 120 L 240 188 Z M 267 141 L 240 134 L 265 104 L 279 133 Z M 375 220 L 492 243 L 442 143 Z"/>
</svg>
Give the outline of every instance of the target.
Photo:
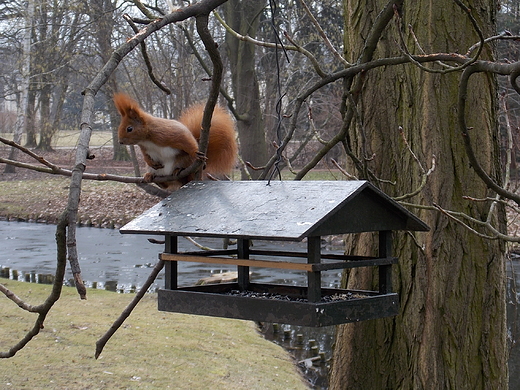
<svg viewBox="0 0 520 390">
<path fill-rule="evenodd" d="M 256 36 L 259 14 L 265 1 L 229 1 L 224 5 L 226 22 L 244 35 Z M 260 92 L 255 73 L 255 45 L 237 40 L 226 33 L 236 110 L 241 116 L 237 122 L 240 154 L 245 162 L 262 166 L 267 162 L 267 147 Z M 261 171 L 251 171 L 257 178 Z M 242 179 L 248 179 L 242 172 Z"/>
</svg>

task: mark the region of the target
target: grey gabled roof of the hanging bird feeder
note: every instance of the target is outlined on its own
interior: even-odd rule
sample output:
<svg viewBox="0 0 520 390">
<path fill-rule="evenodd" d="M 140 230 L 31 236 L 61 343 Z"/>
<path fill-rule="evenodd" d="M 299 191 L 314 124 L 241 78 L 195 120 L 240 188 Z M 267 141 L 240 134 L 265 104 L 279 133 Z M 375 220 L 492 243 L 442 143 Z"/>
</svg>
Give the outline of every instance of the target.
<svg viewBox="0 0 520 390">
<path fill-rule="evenodd" d="M 428 226 L 367 181 L 191 182 L 121 233 L 299 241 Z"/>
</svg>

